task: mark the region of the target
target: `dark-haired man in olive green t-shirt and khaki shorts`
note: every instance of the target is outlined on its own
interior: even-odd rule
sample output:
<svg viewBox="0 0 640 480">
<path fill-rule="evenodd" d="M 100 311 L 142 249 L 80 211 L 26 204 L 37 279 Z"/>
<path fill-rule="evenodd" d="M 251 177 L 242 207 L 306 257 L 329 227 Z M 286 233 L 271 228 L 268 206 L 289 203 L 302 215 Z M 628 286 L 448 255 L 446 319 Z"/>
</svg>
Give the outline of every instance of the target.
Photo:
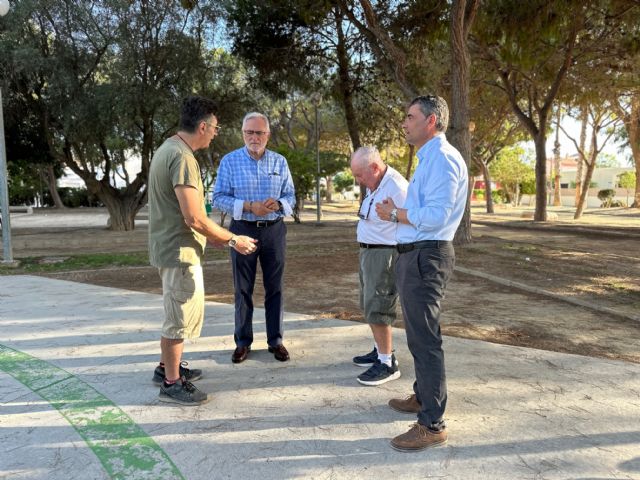
<svg viewBox="0 0 640 480">
<path fill-rule="evenodd" d="M 182 105 L 179 131 L 158 148 L 149 168 L 149 260 L 162 279 L 165 320 L 160 337 L 160 364 L 153 375 L 159 398 L 181 405 L 200 405 L 206 393 L 191 382 L 202 371 L 181 362 L 185 338 L 200 336 L 204 320 L 201 259 L 209 240 L 226 243 L 238 253 L 255 251 L 255 240 L 234 235 L 207 217 L 196 150 L 207 148 L 219 129 L 215 104 L 188 97 Z"/>
</svg>

